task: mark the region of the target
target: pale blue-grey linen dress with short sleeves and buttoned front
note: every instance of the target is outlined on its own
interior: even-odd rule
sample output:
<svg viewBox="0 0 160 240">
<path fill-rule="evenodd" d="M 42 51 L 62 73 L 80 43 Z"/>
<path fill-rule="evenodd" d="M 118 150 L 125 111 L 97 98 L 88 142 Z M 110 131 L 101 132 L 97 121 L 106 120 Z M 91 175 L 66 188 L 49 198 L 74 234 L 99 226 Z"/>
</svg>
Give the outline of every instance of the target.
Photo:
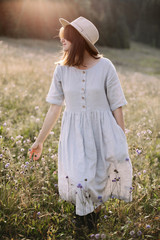
<svg viewBox="0 0 160 240">
<path fill-rule="evenodd" d="M 109 198 L 132 201 L 126 136 L 112 111 L 127 104 L 113 63 L 80 70 L 58 64 L 46 101 L 65 105 L 58 147 L 60 197 L 83 216 Z"/>
</svg>

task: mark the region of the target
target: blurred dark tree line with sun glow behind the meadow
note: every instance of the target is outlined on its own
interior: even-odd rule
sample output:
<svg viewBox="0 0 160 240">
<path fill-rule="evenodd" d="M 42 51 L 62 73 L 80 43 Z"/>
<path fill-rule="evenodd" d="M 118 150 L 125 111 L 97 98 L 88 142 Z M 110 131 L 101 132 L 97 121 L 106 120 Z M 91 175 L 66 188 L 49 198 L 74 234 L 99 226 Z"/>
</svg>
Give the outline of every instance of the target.
<svg viewBox="0 0 160 240">
<path fill-rule="evenodd" d="M 130 39 L 160 48 L 160 0 L 0 0 L 0 35 L 51 39 L 59 17 L 90 19 L 99 45 L 129 48 Z"/>
</svg>

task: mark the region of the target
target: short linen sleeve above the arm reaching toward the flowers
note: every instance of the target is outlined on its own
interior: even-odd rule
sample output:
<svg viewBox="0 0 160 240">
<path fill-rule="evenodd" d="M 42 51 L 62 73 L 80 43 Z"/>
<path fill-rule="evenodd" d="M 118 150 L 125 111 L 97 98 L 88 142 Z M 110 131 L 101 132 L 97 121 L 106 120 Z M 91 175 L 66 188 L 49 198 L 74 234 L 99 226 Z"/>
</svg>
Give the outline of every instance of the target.
<svg viewBox="0 0 160 240">
<path fill-rule="evenodd" d="M 57 65 L 53 73 L 53 78 L 46 101 L 56 105 L 64 105 L 64 93 L 62 88 L 62 74 L 60 65 Z"/>
</svg>

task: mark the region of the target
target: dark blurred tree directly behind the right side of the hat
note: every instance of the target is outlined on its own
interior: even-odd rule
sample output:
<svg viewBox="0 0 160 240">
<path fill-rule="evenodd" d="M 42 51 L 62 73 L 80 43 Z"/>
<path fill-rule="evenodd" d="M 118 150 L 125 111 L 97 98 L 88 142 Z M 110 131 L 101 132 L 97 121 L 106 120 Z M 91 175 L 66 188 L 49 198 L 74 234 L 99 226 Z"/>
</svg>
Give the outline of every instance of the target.
<svg viewBox="0 0 160 240">
<path fill-rule="evenodd" d="M 100 32 L 99 44 L 115 48 L 129 48 L 129 30 L 121 0 L 90 0 L 88 16 Z"/>
</svg>

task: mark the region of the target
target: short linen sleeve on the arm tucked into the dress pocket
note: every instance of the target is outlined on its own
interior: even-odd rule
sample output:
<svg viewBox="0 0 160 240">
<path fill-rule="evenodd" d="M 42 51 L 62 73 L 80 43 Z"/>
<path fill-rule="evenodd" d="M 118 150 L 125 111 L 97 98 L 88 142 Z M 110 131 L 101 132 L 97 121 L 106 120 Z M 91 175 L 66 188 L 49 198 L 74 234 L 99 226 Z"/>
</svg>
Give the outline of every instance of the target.
<svg viewBox="0 0 160 240">
<path fill-rule="evenodd" d="M 106 94 L 112 111 L 127 104 L 115 66 L 109 61 Z"/>
</svg>

